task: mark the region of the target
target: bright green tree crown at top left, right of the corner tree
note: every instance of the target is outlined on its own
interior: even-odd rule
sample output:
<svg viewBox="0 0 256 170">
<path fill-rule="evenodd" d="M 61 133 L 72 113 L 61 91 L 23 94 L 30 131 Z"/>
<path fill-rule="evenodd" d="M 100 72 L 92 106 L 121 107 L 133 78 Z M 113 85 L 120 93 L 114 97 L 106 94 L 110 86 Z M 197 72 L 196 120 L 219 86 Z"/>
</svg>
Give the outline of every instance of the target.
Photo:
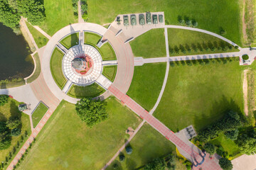
<svg viewBox="0 0 256 170">
<path fill-rule="evenodd" d="M 46 19 L 45 8 L 40 0 L 17 0 L 18 11 L 33 25 L 42 25 Z"/>
</svg>

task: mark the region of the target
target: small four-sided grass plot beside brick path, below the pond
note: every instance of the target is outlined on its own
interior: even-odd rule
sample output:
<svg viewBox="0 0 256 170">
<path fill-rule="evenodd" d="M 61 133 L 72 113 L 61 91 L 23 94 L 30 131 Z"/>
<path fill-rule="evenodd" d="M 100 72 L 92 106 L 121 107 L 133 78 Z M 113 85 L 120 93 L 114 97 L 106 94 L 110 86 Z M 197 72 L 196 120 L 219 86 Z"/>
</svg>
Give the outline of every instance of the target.
<svg viewBox="0 0 256 170">
<path fill-rule="evenodd" d="M 32 113 L 33 128 L 36 128 L 36 125 L 38 125 L 40 120 L 43 118 L 43 115 L 45 115 L 47 111 L 48 107 L 46 107 L 42 102 L 39 103 L 36 110 Z"/>
</svg>

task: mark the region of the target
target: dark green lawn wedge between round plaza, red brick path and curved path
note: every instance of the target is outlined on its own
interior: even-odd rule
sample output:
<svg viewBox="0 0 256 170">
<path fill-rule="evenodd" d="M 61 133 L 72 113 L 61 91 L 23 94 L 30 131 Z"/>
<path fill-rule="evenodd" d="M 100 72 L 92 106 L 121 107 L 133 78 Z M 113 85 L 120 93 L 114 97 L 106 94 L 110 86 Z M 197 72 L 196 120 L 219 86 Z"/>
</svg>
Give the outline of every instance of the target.
<svg viewBox="0 0 256 170">
<path fill-rule="evenodd" d="M 166 63 L 144 64 L 134 67 L 132 84 L 127 95 L 150 111 L 161 91 L 166 72 Z"/>
</svg>

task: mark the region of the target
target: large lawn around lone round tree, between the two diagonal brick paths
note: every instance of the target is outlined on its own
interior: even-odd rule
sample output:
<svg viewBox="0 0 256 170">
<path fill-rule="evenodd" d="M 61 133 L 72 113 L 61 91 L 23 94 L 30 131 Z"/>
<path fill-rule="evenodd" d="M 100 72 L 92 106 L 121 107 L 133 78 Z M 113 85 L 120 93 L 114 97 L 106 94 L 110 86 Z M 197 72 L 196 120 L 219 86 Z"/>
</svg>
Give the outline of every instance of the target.
<svg viewBox="0 0 256 170">
<path fill-rule="evenodd" d="M 62 101 L 18 169 L 102 169 L 124 144 L 125 130 L 142 121 L 115 98 L 106 101 L 110 118 L 93 128 Z"/>
</svg>

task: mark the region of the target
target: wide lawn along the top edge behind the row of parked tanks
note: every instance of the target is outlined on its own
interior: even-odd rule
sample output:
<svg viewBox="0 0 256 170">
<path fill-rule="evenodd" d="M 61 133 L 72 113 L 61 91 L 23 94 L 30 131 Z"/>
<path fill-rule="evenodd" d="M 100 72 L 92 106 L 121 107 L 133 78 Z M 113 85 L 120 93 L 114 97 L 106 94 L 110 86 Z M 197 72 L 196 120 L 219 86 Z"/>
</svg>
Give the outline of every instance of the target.
<svg viewBox="0 0 256 170">
<path fill-rule="evenodd" d="M 225 38 L 240 45 L 242 1 L 206 0 L 88 0 L 88 21 L 91 23 L 112 23 L 118 14 L 164 11 L 166 25 L 178 25 L 178 16 L 187 16 L 198 22 L 198 28 L 220 33 L 226 30 Z M 114 8 L 113 8 L 114 6 Z"/>
</svg>

